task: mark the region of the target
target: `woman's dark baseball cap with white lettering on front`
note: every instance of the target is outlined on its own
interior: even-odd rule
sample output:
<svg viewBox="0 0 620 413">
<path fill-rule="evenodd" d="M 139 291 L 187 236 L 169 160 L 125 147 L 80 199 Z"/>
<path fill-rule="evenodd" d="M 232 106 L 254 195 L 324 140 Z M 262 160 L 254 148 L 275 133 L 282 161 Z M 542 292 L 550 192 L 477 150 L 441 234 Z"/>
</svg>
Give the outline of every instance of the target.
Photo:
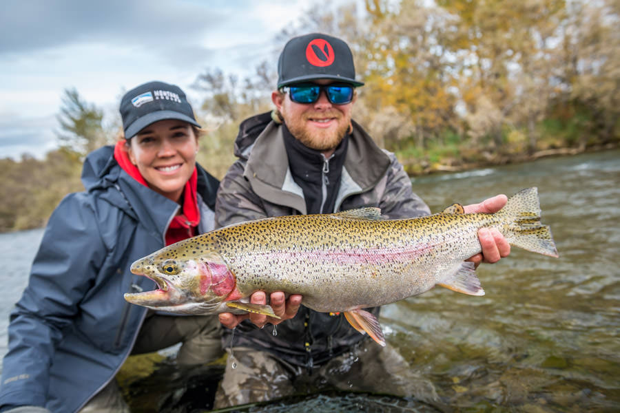
<svg viewBox="0 0 620 413">
<path fill-rule="evenodd" d="M 169 83 L 154 81 L 134 87 L 121 99 L 120 110 L 125 139 L 165 119 L 184 120 L 200 127 L 183 90 Z"/>
</svg>

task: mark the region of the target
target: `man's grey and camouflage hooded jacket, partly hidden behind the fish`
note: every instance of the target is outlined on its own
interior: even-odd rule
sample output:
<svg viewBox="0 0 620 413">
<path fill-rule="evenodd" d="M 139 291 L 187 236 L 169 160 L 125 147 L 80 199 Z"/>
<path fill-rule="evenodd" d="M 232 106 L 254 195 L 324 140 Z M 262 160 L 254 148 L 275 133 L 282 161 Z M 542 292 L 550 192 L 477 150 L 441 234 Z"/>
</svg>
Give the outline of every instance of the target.
<svg viewBox="0 0 620 413">
<path fill-rule="evenodd" d="M 428 215 L 428 207 L 413 193 L 411 180 L 394 154 L 377 147 L 358 123 L 352 125 L 333 212 L 379 207 L 386 218 Z M 303 191 L 291 176 L 282 127 L 269 113 L 240 125 L 235 154 L 238 160 L 218 190 L 216 228 L 307 213 Z M 378 315 L 378 308 L 373 313 Z M 278 325 L 277 335 L 271 330 L 259 330 L 244 321 L 236 328 L 233 346 L 265 350 L 294 365 L 311 368 L 364 338 L 342 315 L 317 313 L 303 306 L 295 318 Z"/>
</svg>

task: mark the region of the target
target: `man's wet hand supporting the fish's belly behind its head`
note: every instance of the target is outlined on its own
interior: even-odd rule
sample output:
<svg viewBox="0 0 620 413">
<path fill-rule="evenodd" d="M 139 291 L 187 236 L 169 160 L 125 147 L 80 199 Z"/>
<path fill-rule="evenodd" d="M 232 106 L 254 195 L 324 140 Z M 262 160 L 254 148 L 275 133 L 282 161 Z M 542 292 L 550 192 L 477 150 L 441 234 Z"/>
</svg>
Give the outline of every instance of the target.
<svg viewBox="0 0 620 413">
<path fill-rule="evenodd" d="M 219 315 L 220 323 L 225 327 L 235 328 L 241 321 L 249 318 L 258 328 L 265 327 L 267 323 L 280 324 L 282 321 L 295 317 L 302 300 L 302 296 L 299 294 L 292 294 L 289 296 L 289 299 L 285 299 L 285 293 L 282 293 L 282 291 L 271 293 L 269 298 L 269 305 L 273 308 L 273 313 L 280 317 L 280 319 L 254 313 L 242 315 L 221 313 Z M 256 293 L 251 295 L 250 302 L 252 304 L 267 304 L 267 295 L 263 291 L 256 291 Z"/>
</svg>

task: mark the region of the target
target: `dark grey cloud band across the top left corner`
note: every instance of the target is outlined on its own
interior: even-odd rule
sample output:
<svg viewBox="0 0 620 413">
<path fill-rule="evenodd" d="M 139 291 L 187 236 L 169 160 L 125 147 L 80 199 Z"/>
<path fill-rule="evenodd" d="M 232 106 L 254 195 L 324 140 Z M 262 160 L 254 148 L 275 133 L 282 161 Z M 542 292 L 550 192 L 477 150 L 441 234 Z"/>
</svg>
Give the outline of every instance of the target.
<svg viewBox="0 0 620 413">
<path fill-rule="evenodd" d="M 75 43 L 169 47 L 223 22 L 209 3 L 167 0 L 14 0 L 0 14 L 0 54 Z"/>
</svg>

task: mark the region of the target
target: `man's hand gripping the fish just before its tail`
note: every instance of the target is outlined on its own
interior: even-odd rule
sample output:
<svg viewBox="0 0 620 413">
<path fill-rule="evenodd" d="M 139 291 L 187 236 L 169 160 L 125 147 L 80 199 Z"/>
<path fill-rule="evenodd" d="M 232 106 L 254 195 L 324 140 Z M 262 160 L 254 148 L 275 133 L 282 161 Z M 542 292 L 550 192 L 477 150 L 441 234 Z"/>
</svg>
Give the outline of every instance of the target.
<svg viewBox="0 0 620 413">
<path fill-rule="evenodd" d="M 465 213 L 495 213 L 504 208 L 506 201 L 508 201 L 506 195 L 495 195 L 493 198 L 488 198 L 479 204 L 467 205 L 464 209 Z M 482 253 L 476 254 L 467 260 L 473 262 L 476 267 L 481 262 L 493 264 L 498 262 L 500 258 L 508 257 L 510 254 L 510 244 L 497 229 L 479 229 L 478 240 L 482 246 Z"/>
</svg>

